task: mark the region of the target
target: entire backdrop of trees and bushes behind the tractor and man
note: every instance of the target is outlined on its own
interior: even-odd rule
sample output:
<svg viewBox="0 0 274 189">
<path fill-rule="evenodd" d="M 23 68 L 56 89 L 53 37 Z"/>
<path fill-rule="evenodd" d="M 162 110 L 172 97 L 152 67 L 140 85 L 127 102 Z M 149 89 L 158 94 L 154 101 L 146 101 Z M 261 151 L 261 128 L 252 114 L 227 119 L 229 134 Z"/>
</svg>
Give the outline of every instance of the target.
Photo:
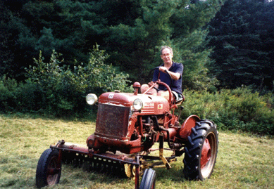
<svg viewBox="0 0 274 189">
<path fill-rule="evenodd" d="M 149 82 L 168 45 L 185 116 L 273 134 L 273 15 L 260 0 L 0 1 L 0 111 L 94 115 L 87 93 Z"/>
</svg>

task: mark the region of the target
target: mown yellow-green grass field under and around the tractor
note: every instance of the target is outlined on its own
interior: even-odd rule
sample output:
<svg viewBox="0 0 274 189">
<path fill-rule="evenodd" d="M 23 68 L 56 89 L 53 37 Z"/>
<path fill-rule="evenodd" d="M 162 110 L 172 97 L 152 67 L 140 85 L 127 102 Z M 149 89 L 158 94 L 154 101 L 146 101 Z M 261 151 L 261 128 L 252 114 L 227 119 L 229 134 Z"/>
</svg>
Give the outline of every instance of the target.
<svg viewBox="0 0 274 189">
<path fill-rule="evenodd" d="M 0 115 L 0 188 L 35 188 L 37 162 L 58 140 L 84 144 L 94 122 Z M 156 169 L 156 188 L 274 188 L 274 139 L 219 131 L 213 175 L 186 181 L 182 159 L 170 170 Z M 64 165 L 61 181 L 50 188 L 134 188 L 134 181 Z"/>
</svg>

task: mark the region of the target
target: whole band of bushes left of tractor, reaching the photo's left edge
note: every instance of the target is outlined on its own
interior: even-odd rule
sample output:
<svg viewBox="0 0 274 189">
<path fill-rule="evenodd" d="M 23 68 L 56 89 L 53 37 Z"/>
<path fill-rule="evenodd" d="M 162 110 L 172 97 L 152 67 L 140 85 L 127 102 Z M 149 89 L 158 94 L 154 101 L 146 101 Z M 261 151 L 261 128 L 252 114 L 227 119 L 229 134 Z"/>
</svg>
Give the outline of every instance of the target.
<svg viewBox="0 0 274 189">
<path fill-rule="evenodd" d="M 29 79 L 17 84 L 14 79 L 1 79 L 1 111 L 42 112 L 55 116 L 83 116 L 93 111 L 85 102 L 87 93 L 100 95 L 105 91 L 128 91 L 127 74 L 104 64 L 108 57 L 94 48 L 89 62 L 70 67 L 62 65 L 60 55 L 53 51 L 49 63 L 42 53 L 35 66 L 27 68 Z"/>
</svg>

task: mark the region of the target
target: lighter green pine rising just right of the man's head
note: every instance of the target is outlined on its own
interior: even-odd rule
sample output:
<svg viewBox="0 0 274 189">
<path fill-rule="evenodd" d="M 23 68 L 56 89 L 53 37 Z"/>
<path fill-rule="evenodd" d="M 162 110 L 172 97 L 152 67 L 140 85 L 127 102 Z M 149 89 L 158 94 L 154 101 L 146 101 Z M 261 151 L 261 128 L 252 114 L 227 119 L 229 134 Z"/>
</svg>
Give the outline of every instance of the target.
<svg viewBox="0 0 274 189">
<path fill-rule="evenodd" d="M 185 88 L 204 90 L 216 85 L 215 77 L 208 77 L 206 68 L 211 59 L 211 48 L 206 48 L 206 30 L 201 30 L 223 5 L 223 1 L 196 1 L 178 8 L 173 15 L 171 40 L 174 41 L 180 61 L 185 65 Z"/>
</svg>

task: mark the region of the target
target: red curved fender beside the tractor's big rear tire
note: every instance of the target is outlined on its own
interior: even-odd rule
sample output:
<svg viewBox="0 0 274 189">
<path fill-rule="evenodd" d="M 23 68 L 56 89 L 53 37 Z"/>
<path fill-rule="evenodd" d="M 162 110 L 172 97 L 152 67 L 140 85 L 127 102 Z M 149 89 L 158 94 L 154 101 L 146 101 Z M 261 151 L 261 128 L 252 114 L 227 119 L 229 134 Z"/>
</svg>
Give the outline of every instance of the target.
<svg viewBox="0 0 274 189">
<path fill-rule="evenodd" d="M 201 121 L 201 119 L 197 115 L 191 115 L 185 119 L 185 122 L 182 123 L 182 127 L 180 129 L 180 138 L 187 138 L 191 134 L 191 129 L 196 125 L 196 122 Z"/>
</svg>

